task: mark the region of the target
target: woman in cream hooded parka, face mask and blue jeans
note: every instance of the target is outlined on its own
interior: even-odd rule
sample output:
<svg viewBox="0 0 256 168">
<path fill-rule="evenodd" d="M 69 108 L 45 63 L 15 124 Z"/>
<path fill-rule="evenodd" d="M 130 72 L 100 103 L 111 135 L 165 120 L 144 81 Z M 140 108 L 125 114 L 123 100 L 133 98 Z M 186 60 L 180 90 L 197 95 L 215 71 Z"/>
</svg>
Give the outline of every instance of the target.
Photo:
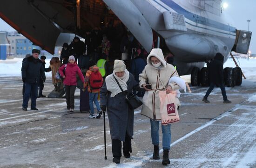
<svg viewBox="0 0 256 168">
<path fill-rule="evenodd" d="M 148 65 L 140 74 L 140 87 L 146 90 L 143 96 L 143 105 L 141 115 L 150 118 L 151 138 L 154 145 L 153 159 L 158 160 L 159 157 L 159 121 L 160 114 L 160 98 L 159 91 L 166 88 L 167 94 L 172 90 L 178 90 L 176 83 L 170 83 L 171 77 L 179 77 L 173 65 L 167 64 L 164 60 L 162 50 L 159 48 L 152 49 L 147 58 Z M 147 84 L 149 83 L 149 84 Z M 148 87 L 148 85 L 150 87 Z M 163 86 L 164 85 L 164 86 Z M 162 164 L 170 164 L 169 150 L 171 145 L 171 124 L 162 125 Z"/>
</svg>

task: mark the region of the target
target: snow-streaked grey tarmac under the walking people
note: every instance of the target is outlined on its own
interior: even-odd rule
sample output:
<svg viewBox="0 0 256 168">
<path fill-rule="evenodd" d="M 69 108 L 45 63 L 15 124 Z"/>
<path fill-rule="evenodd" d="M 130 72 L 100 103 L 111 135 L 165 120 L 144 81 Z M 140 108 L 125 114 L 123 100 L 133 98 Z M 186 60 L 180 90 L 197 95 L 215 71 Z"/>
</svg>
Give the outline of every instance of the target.
<svg viewBox="0 0 256 168">
<path fill-rule="evenodd" d="M 252 71 L 252 70 L 247 70 Z M 253 69 L 255 71 L 255 69 Z M 0 78 L 0 167 L 3 168 L 256 168 L 256 73 L 241 86 L 227 88 L 231 104 L 223 104 L 215 88 L 210 103 L 202 102 L 208 87 L 191 87 L 182 93 L 181 121 L 171 124 L 170 165 L 153 160 L 149 119 L 135 110 L 131 158 L 112 162 L 108 116 L 107 160 L 104 160 L 103 115 L 89 118 L 79 110 L 69 114 L 65 98 L 38 98 L 39 111 L 22 107 L 20 77 Z M 185 76 L 189 82 L 189 76 Z M 43 94 L 53 90 L 47 77 Z M 96 111 L 96 110 L 95 110 Z M 160 127 L 160 147 L 162 133 Z"/>
</svg>

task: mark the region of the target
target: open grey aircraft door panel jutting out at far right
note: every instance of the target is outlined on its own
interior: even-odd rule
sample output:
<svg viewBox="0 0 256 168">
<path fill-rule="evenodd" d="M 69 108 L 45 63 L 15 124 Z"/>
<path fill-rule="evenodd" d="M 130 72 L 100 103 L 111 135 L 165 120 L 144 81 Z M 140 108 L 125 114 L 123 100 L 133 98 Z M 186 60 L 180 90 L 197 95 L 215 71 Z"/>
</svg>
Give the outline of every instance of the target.
<svg viewBox="0 0 256 168">
<path fill-rule="evenodd" d="M 232 51 L 247 54 L 249 50 L 252 32 L 245 30 L 236 30 L 236 41 Z"/>
</svg>

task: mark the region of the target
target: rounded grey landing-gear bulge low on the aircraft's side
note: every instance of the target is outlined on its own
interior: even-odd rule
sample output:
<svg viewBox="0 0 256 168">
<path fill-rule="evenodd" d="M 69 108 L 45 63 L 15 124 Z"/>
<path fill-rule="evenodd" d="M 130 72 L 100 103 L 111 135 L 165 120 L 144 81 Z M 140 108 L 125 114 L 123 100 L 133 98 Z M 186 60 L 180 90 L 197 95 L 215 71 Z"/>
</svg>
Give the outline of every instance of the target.
<svg viewBox="0 0 256 168">
<path fill-rule="evenodd" d="M 224 61 L 228 59 L 230 49 L 220 39 L 200 34 L 178 34 L 165 40 L 175 59 L 182 62 L 204 62 L 222 53 Z"/>
</svg>

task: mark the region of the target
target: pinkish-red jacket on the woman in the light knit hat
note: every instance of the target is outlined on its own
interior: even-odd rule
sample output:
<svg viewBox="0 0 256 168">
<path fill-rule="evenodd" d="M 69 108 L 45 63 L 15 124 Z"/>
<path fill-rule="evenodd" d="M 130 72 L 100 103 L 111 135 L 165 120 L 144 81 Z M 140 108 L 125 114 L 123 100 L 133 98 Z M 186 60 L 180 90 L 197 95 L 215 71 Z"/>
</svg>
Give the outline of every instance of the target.
<svg viewBox="0 0 256 168">
<path fill-rule="evenodd" d="M 64 73 L 63 73 L 64 68 L 65 68 L 65 65 L 62 65 L 59 68 L 59 72 L 61 74 L 61 77 L 64 76 Z M 64 78 L 63 84 L 66 84 L 68 86 L 76 85 L 76 74 L 79 75 L 79 78 L 84 83 L 84 76 L 83 76 L 80 68 L 78 67 L 78 65 L 76 63 L 74 63 L 74 64 L 67 63 L 67 67 L 66 67 L 66 70 L 65 70 L 65 78 Z"/>
</svg>

